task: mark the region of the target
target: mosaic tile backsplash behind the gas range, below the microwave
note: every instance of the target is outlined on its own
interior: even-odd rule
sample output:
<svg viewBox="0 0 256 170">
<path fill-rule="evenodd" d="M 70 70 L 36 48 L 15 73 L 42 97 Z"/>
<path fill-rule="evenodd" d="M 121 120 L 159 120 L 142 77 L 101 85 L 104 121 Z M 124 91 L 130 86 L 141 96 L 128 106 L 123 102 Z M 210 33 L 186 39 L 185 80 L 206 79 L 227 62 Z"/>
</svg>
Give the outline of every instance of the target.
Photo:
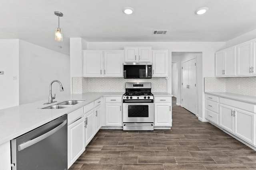
<svg viewBox="0 0 256 170">
<path fill-rule="evenodd" d="M 124 92 L 126 82 L 151 82 L 152 92 L 167 92 L 167 80 L 165 78 L 124 79 L 117 77 L 73 77 L 72 92 L 74 94 L 85 92 Z"/>
</svg>

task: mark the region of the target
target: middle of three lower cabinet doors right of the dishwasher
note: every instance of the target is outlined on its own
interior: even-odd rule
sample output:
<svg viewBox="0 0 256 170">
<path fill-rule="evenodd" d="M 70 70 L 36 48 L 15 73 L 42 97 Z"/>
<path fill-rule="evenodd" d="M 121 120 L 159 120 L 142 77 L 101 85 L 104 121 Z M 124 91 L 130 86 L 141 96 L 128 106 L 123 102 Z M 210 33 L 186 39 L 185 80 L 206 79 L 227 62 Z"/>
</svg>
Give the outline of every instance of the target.
<svg viewBox="0 0 256 170">
<path fill-rule="evenodd" d="M 94 137 L 94 109 L 85 114 L 85 119 L 85 146 L 87 146 Z"/>
</svg>

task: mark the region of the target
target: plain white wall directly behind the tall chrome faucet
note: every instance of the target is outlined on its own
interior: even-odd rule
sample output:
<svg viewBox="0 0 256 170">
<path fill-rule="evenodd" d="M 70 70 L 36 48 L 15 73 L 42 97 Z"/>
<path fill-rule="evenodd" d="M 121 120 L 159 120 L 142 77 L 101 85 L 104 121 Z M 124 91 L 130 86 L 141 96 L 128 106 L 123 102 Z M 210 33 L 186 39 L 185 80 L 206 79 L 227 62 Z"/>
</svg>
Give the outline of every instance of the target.
<svg viewBox="0 0 256 170">
<path fill-rule="evenodd" d="M 52 84 L 52 94 L 58 97 L 70 94 L 70 57 L 32 43 L 20 40 L 19 46 L 20 104 L 38 100 L 48 101 L 49 85 L 59 80 L 64 88 Z"/>
</svg>

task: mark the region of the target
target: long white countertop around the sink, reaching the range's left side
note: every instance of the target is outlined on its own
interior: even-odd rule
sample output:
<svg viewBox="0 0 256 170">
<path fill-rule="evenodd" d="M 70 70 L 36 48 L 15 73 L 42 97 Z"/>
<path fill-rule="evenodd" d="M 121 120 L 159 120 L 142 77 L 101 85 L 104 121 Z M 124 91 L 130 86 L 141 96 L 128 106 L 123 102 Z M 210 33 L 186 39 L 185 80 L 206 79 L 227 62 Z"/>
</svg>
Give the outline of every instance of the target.
<svg viewBox="0 0 256 170">
<path fill-rule="evenodd" d="M 70 94 L 56 98 L 57 102 L 43 105 L 48 100 L 42 100 L 20 106 L 0 109 L 0 145 L 48 123 L 64 114 L 70 113 L 102 96 L 122 96 L 124 92 L 88 92 L 84 94 Z M 40 109 L 64 102 L 66 100 L 85 100 L 64 109 Z"/>
</svg>

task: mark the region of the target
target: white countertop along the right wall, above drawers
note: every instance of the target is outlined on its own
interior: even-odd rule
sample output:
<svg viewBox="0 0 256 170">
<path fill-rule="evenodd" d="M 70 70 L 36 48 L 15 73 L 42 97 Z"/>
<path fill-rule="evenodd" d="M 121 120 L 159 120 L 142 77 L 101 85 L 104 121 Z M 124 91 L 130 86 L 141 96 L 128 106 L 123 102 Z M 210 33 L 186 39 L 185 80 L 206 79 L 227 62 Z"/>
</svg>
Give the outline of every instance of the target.
<svg viewBox="0 0 256 170">
<path fill-rule="evenodd" d="M 238 100 L 241 102 L 256 104 L 255 96 L 246 96 L 246 95 L 242 95 L 242 94 L 234 94 L 234 93 L 227 93 L 227 92 L 204 92 L 204 93 L 214 95 L 214 96 L 219 96 L 222 98 L 229 98 L 229 99 L 234 99 L 234 100 Z"/>
</svg>

